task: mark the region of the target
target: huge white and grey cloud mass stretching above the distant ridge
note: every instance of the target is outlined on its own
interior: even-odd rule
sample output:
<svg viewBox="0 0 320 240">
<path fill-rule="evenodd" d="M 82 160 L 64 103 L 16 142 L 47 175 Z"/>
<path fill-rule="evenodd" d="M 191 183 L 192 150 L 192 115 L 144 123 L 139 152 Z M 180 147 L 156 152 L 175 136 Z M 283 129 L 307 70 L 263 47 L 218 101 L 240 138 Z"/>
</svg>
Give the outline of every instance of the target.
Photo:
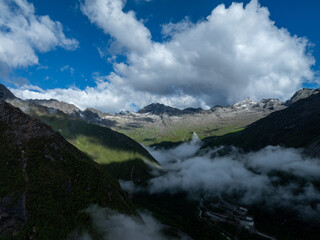
<svg viewBox="0 0 320 240">
<path fill-rule="evenodd" d="M 122 0 L 82 2 L 83 14 L 123 48 L 126 59 L 115 61 L 114 71 L 103 81 L 100 78 L 95 87 L 84 90 L 18 89 L 15 94 L 57 98 L 109 112 L 151 102 L 208 108 L 247 96 L 285 100 L 303 82 L 313 80 L 315 60 L 308 52 L 308 40 L 278 28 L 257 0 L 246 6 L 221 4 L 197 23 L 185 18 L 164 24 L 163 42 L 154 42 L 143 21 L 132 11 L 123 12 L 123 7 Z"/>
</svg>

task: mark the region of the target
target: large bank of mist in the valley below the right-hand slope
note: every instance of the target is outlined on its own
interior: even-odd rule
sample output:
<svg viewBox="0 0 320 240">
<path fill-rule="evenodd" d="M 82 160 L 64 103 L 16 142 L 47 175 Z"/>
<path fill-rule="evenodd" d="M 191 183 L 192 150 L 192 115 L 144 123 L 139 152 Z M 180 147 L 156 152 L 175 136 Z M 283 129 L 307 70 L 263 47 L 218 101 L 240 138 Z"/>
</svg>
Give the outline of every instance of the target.
<svg viewBox="0 0 320 240">
<path fill-rule="evenodd" d="M 241 204 L 282 207 L 303 219 L 319 220 L 320 159 L 301 150 L 268 146 L 249 153 L 234 147 L 203 151 L 196 135 L 169 150 L 148 150 L 163 170 L 150 180 L 151 194 L 232 196 Z"/>
</svg>

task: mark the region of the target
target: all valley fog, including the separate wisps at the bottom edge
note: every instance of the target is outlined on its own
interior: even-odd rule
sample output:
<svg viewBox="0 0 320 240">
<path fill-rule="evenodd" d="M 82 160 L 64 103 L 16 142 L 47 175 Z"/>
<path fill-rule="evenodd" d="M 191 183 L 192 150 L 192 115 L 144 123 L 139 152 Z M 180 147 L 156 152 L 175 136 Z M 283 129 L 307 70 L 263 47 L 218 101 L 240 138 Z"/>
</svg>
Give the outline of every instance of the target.
<svg viewBox="0 0 320 240">
<path fill-rule="evenodd" d="M 147 147 L 162 165 L 161 170 L 154 169 L 147 188 L 120 180 L 122 188 L 152 195 L 186 192 L 199 201 L 232 199 L 242 206 L 282 208 L 300 220 L 318 221 L 320 159 L 280 146 L 243 152 L 235 147 L 201 149 L 201 143 L 194 134 L 190 142 L 168 150 Z M 170 239 L 164 235 L 167 226 L 151 213 L 139 212 L 141 218 L 138 218 L 95 205 L 86 212 L 103 239 Z M 185 235 L 177 238 L 189 239 Z M 87 232 L 74 232 L 69 239 L 92 238 Z"/>
</svg>

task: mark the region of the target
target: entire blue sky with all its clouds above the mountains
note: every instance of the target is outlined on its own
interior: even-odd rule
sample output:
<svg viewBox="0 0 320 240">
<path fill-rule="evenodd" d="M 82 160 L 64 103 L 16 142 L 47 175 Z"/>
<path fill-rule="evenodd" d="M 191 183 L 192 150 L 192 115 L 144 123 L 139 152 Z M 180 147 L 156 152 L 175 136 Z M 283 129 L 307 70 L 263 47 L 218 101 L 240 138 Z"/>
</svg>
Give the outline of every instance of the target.
<svg viewBox="0 0 320 240">
<path fill-rule="evenodd" d="M 285 100 L 319 86 L 318 0 L 0 0 L 0 82 L 135 111 Z"/>
</svg>

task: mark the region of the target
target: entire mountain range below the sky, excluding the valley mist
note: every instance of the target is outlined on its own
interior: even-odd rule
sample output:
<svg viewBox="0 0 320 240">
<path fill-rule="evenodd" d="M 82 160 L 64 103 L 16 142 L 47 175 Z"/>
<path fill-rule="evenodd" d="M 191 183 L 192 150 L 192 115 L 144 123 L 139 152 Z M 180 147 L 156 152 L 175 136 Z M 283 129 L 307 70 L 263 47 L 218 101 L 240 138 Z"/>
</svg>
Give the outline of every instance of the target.
<svg viewBox="0 0 320 240">
<path fill-rule="evenodd" d="M 319 89 L 301 89 L 286 102 L 247 98 L 208 110 L 181 110 L 153 103 L 136 113 L 109 114 L 92 108 L 81 110 L 54 99 L 22 100 L 0 84 L 0 239 L 65 239 L 75 229 L 87 231 L 92 239 L 103 239 L 83 211 L 92 204 L 137 218 L 137 208 L 146 208 L 170 226 L 166 234 L 171 237 L 184 232 L 193 239 L 276 239 L 269 229 L 272 226 L 279 239 L 300 239 L 303 231 L 308 239 L 319 239 L 314 224 L 309 226 L 282 210 L 276 215 L 273 209 L 259 205 L 246 207 L 269 235 L 240 229 L 242 220 L 234 219 L 244 219 L 240 215 L 248 213 L 237 206 L 238 193 L 233 198 L 202 195 L 195 199 L 185 193 L 150 194 L 146 190 L 154 178 L 169 174 L 166 181 L 170 181 L 172 177 L 170 169 L 147 149 L 158 148 L 165 155 L 180 149 L 185 155 L 195 145 L 200 150 L 190 157 L 200 163 L 207 152 L 219 146 L 224 146 L 218 151 L 221 156 L 230 152 L 228 146 L 253 153 L 274 145 L 303 149 L 303 154 L 318 157 L 319 103 Z M 194 132 L 202 141 L 195 137 L 189 141 L 192 135 L 197 136 Z M 183 163 L 174 165 L 174 173 L 180 178 L 184 172 L 177 168 L 179 164 Z M 300 184 L 301 188 L 310 185 L 282 172 L 272 172 L 268 177 L 279 179 L 277 184 L 291 181 L 292 186 Z M 124 185 L 128 183 L 129 192 Z M 319 180 L 312 180 L 312 184 L 318 191 Z M 140 190 L 135 192 L 134 186 Z M 314 200 L 312 207 L 316 209 L 317 204 Z M 221 219 L 212 221 L 211 215 L 203 218 L 202 212 L 211 214 L 208 209 L 212 206 L 220 206 L 220 218 L 229 214 L 222 217 L 222 223 Z M 230 221 L 229 210 L 234 215 L 235 209 L 239 216 Z"/>
</svg>

